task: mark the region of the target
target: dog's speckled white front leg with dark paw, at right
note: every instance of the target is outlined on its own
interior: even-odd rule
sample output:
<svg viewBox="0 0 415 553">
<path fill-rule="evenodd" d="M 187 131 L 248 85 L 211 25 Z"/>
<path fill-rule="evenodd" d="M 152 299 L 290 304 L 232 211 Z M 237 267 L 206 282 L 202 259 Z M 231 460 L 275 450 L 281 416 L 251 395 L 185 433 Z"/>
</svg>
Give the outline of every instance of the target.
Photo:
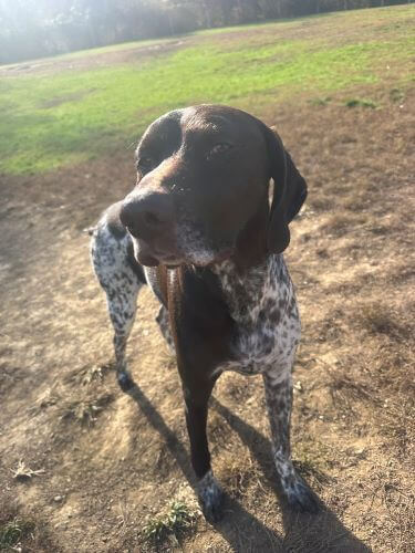
<svg viewBox="0 0 415 553">
<path fill-rule="evenodd" d="M 290 420 L 292 407 L 291 363 L 263 374 L 277 472 L 289 504 L 298 511 L 317 512 L 318 503 L 291 460 Z"/>
</svg>

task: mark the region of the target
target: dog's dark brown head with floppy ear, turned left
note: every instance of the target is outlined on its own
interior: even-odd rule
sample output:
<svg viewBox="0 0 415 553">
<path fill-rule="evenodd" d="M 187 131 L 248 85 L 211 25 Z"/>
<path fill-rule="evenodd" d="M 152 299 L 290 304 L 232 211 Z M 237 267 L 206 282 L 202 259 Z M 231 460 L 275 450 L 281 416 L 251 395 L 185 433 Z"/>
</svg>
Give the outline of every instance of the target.
<svg viewBox="0 0 415 553">
<path fill-rule="evenodd" d="M 235 255 L 247 229 L 269 252 L 289 244 L 307 185 L 259 119 L 220 105 L 177 109 L 147 128 L 136 156 L 121 220 L 141 263 L 208 265 Z"/>
</svg>

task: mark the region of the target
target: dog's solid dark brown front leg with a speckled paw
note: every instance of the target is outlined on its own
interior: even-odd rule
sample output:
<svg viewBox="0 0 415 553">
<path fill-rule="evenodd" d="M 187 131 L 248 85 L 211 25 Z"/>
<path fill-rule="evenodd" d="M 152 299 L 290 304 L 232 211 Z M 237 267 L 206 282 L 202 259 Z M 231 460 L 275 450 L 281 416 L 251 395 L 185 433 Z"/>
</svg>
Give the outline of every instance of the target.
<svg viewBox="0 0 415 553">
<path fill-rule="evenodd" d="M 197 386 L 184 383 L 184 397 L 191 466 L 198 480 L 199 501 L 206 519 L 217 522 L 221 518 L 222 492 L 211 471 L 206 435 L 208 401 L 214 385 L 214 380 L 198 383 Z"/>
</svg>

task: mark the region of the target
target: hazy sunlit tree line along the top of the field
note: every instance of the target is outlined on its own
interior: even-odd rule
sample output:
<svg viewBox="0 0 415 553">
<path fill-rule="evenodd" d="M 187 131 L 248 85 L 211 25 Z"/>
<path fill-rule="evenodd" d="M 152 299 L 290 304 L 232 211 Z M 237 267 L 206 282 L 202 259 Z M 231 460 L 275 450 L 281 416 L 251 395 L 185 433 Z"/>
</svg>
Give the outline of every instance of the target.
<svg viewBox="0 0 415 553">
<path fill-rule="evenodd" d="M 250 23 L 411 0 L 0 0 L 0 63 Z"/>
</svg>

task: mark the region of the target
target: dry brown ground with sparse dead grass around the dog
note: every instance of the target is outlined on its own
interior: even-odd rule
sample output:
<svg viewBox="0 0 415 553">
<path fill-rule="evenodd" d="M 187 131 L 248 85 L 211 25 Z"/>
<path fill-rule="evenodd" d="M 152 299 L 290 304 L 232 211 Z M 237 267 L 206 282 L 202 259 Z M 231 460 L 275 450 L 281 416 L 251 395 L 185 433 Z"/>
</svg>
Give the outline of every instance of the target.
<svg viewBox="0 0 415 553">
<path fill-rule="evenodd" d="M 325 505 L 318 517 L 279 501 L 261 378 L 227 374 L 209 415 L 226 515 L 203 519 L 147 290 L 129 343 L 139 392 L 118 389 L 82 230 L 133 186 L 132 152 L 1 178 L 0 523 L 34 524 L 22 551 L 413 551 L 415 98 L 378 100 L 266 117 L 310 189 L 287 258 L 303 323 L 293 457 Z M 155 545 L 143 529 L 173 501 L 194 522 Z"/>
</svg>

